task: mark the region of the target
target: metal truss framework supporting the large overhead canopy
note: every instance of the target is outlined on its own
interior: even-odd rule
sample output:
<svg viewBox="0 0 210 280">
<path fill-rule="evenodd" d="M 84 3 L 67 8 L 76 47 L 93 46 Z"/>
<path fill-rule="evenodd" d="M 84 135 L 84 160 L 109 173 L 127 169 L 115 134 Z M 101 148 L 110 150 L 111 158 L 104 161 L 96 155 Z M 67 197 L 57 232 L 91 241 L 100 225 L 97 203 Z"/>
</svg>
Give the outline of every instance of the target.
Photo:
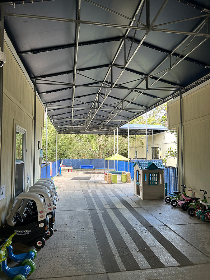
<svg viewBox="0 0 210 280">
<path fill-rule="evenodd" d="M 34 2 L 38 2 L 38 1 L 40 1 L 40 0 L 34 0 Z M 48 1 L 48 0 L 44 0 L 44 1 Z M 207 24 L 207 26 L 208 26 L 210 11 L 207 8 L 202 7 L 201 5 L 194 4 L 193 2 L 190 2 L 190 1 L 178 0 L 179 2 L 190 5 L 194 8 L 196 8 L 196 9 L 200 10 L 201 12 L 204 11 L 207 14 L 196 16 L 196 17 L 191 17 L 191 18 L 183 19 L 183 20 L 179 20 L 179 21 L 171 21 L 171 22 L 166 22 L 166 23 L 161 23 L 161 24 L 155 25 L 155 22 L 156 22 L 158 16 L 160 15 L 162 10 L 166 6 L 168 0 L 163 1 L 159 11 L 156 13 L 156 16 L 154 17 L 154 19 L 152 20 L 151 23 L 150 23 L 150 12 L 149 12 L 149 4 L 148 4 L 149 1 L 147 1 L 147 8 L 146 8 L 147 24 L 145 25 L 142 22 L 140 22 L 140 18 L 141 18 L 141 14 L 142 14 L 142 11 L 143 11 L 145 0 L 141 0 L 139 2 L 138 8 L 137 8 L 133 18 L 129 18 L 128 16 L 122 15 L 122 14 L 116 12 L 116 11 L 113 11 L 111 9 L 108 9 L 108 8 L 104 7 L 104 6 L 101 6 L 101 5 L 99 5 L 95 2 L 91 2 L 90 0 L 84 0 L 84 1 L 89 2 L 92 5 L 96 5 L 97 7 L 100 7 L 101 9 L 107 10 L 111 13 L 122 16 L 122 17 L 130 20 L 131 23 L 129 25 L 121 25 L 121 24 L 111 24 L 111 23 L 94 22 L 94 21 L 82 21 L 81 18 L 80 18 L 81 0 L 77 0 L 77 16 L 76 16 L 77 19 L 64 19 L 64 18 L 47 17 L 47 16 L 35 16 L 35 15 L 23 15 L 23 14 L 15 14 L 15 13 L 4 13 L 4 16 L 16 16 L 16 17 L 22 17 L 22 18 L 32 18 L 32 19 L 42 19 L 42 20 L 50 20 L 50 21 L 70 22 L 70 23 L 76 24 L 76 41 L 75 41 L 74 44 L 69 44 L 69 45 L 64 45 L 64 46 L 56 46 L 56 47 L 51 47 L 51 48 L 48 48 L 48 49 L 38 49 L 38 50 L 26 51 L 26 52 L 21 52 L 21 53 L 18 54 L 19 56 L 21 56 L 21 55 L 28 55 L 28 54 L 38 54 L 38 53 L 42 53 L 42 52 L 54 51 L 54 50 L 59 50 L 59 49 L 62 50 L 62 49 L 68 49 L 68 48 L 75 48 L 74 69 L 73 70 L 70 70 L 70 71 L 67 71 L 67 72 L 53 73 L 53 74 L 49 74 L 49 75 L 45 75 L 45 76 L 43 75 L 43 76 L 40 76 L 40 77 L 33 77 L 32 78 L 32 79 L 36 79 L 36 84 L 68 86 L 68 87 L 63 88 L 63 89 L 41 92 L 40 95 L 50 94 L 50 93 L 55 93 L 55 92 L 59 92 L 59 91 L 65 91 L 65 90 L 72 89 L 72 97 L 71 98 L 61 99 L 61 100 L 56 100 L 56 101 L 46 103 L 46 107 L 54 108 L 52 110 L 48 110 L 48 112 L 52 112 L 52 111 L 54 112 L 54 111 L 63 110 L 63 109 L 71 109 L 71 112 L 56 114 L 56 115 L 51 116 L 51 118 L 57 122 L 57 124 L 56 124 L 56 126 L 58 125 L 57 128 L 63 128 L 63 127 L 68 126 L 68 129 L 64 129 L 64 130 L 62 129 L 62 130 L 60 130 L 60 132 L 71 130 L 71 132 L 68 132 L 68 133 L 75 133 L 75 131 L 73 131 L 73 130 L 78 129 L 78 128 L 83 129 L 83 132 L 79 131 L 80 133 L 88 133 L 88 132 L 95 133 L 96 131 L 101 133 L 103 131 L 107 132 L 107 130 L 110 131 L 111 129 L 115 129 L 115 128 L 118 127 L 117 125 L 115 125 L 112 122 L 127 123 L 127 120 L 125 121 L 125 119 L 123 118 L 124 116 L 120 115 L 120 112 L 127 112 L 129 114 L 131 114 L 131 113 L 135 114 L 132 118 L 128 119 L 128 120 L 132 120 L 132 119 L 138 117 L 139 115 L 144 114 L 148 110 L 148 108 L 146 106 L 143 106 L 141 104 L 138 104 L 138 103 L 134 102 L 139 96 L 146 95 L 146 96 L 151 97 L 151 98 L 160 99 L 160 102 L 156 103 L 154 106 L 149 108 L 149 110 L 152 110 L 153 108 L 157 107 L 158 105 L 161 105 L 161 104 L 165 103 L 166 101 L 180 95 L 180 90 L 177 90 L 177 88 L 180 89 L 180 87 L 182 87 L 182 93 L 183 93 L 183 92 L 189 90 L 190 88 L 193 88 L 194 86 L 198 85 L 199 83 L 203 82 L 204 80 L 207 80 L 207 79 L 210 78 L 210 74 L 206 75 L 202 79 L 199 79 L 198 81 L 192 83 L 191 85 L 189 85 L 185 88 L 183 88 L 182 85 L 177 85 L 175 83 L 171 83 L 171 82 L 163 79 L 163 77 L 171 69 L 173 69 L 175 66 L 177 66 L 183 60 L 186 60 L 186 61 L 191 62 L 191 63 L 196 63 L 198 65 L 201 65 L 201 66 L 205 67 L 205 68 L 210 68 L 210 66 L 206 65 L 205 63 L 202 63 L 202 62 L 199 62 L 197 60 L 188 58 L 188 56 L 195 49 L 197 49 L 201 44 L 203 44 L 210 37 L 209 32 L 208 33 L 200 33 L 200 31 L 201 31 L 201 29 L 203 28 L 204 25 Z M 19 4 L 23 1 L 13 1 L 13 2 L 14 2 L 13 4 L 15 4 L 15 3 Z M 25 2 L 28 3 L 29 1 L 26 0 Z M 11 2 L 9 2 L 9 3 L 11 4 Z M 139 19 L 137 21 L 136 16 L 138 15 L 139 12 L 140 12 L 140 16 L 139 16 Z M 180 31 L 180 30 L 169 30 L 169 29 L 160 28 L 160 26 L 170 25 L 170 24 L 174 24 L 174 23 L 177 23 L 177 22 L 190 21 L 190 20 L 198 19 L 198 18 L 203 18 L 203 21 L 192 32 Z M 134 26 L 133 23 L 136 23 L 136 26 Z M 87 41 L 87 42 L 81 42 L 80 43 L 79 42 L 79 33 L 80 33 L 80 25 L 81 24 L 88 24 L 88 25 L 95 25 L 95 26 L 106 26 L 106 27 L 114 27 L 114 28 L 121 28 L 121 29 L 123 28 L 123 29 L 127 29 L 127 30 L 126 30 L 125 35 L 123 37 L 113 37 L 113 38 L 109 38 L 107 40 L 95 40 L 95 41 Z M 132 30 L 132 29 L 135 30 L 135 32 L 137 30 L 145 30 L 145 34 L 143 35 L 142 40 L 136 40 L 135 39 L 135 33 L 134 33 L 133 38 L 128 37 L 129 31 Z M 208 30 L 209 30 L 209 26 L 208 26 Z M 156 46 L 153 46 L 151 44 L 147 44 L 146 42 L 144 42 L 150 31 L 174 33 L 174 34 L 181 34 L 181 35 L 187 35 L 187 36 L 171 52 L 171 51 L 168 51 L 166 49 L 162 49 L 162 48 L 159 48 L 159 47 L 156 47 Z M 181 54 L 176 53 L 176 50 L 181 45 L 183 45 L 184 42 L 186 42 L 191 36 L 193 36 L 193 38 L 190 40 L 190 42 L 187 44 L 187 46 L 184 48 L 184 50 L 181 52 Z M 187 49 L 187 47 L 189 47 L 189 45 L 191 45 L 191 42 L 197 36 L 204 37 L 204 38 L 199 44 L 196 45 L 196 47 L 194 47 L 192 50 L 188 51 L 188 53 L 186 55 L 184 55 L 183 54 L 184 51 Z M 119 45 L 119 48 L 118 48 L 118 50 L 115 54 L 115 57 L 114 57 L 111 64 L 105 64 L 105 65 L 100 65 L 100 66 L 90 67 L 90 68 L 77 69 L 78 47 L 82 47 L 82 46 L 85 46 L 85 45 L 91 45 L 91 44 L 101 44 L 101 43 L 106 43 L 106 42 L 113 42 L 113 41 L 120 42 L 120 45 Z M 125 47 L 126 41 L 131 42 L 131 46 L 130 46 L 128 56 L 127 56 L 127 58 L 125 56 L 124 65 L 116 65 L 115 64 L 116 58 L 118 57 L 119 52 L 122 49 L 123 45 L 124 45 L 124 48 L 126 50 L 126 47 Z M 130 55 L 131 47 L 133 46 L 133 44 L 137 44 L 137 47 L 133 51 L 133 54 Z M 156 51 L 159 51 L 159 52 L 162 52 L 162 53 L 166 54 L 166 57 L 161 61 L 161 63 L 159 63 L 149 74 L 145 74 L 145 73 L 138 72 L 138 71 L 135 71 L 133 69 L 128 68 L 129 63 L 133 59 L 134 55 L 137 53 L 140 46 L 145 46 L 145 47 L 148 47 L 150 49 L 154 49 Z M 172 63 L 172 64 L 171 64 L 171 56 L 176 58 L 175 62 Z M 156 72 L 156 70 L 167 59 L 169 60 L 169 68 L 167 68 L 167 69 L 165 69 L 165 70 L 163 70 L 159 73 L 154 74 L 154 72 Z M 113 68 L 114 67 L 117 67 L 117 68 L 121 69 L 121 72 L 120 72 L 120 74 L 118 75 L 118 77 L 116 78 L 115 81 L 113 81 Z M 103 81 L 96 81 L 95 80 L 95 82 L 84 84 L 84 85 L 77 85 L 76 84 L 76 76 L 77 76 L 78 72 L 97 69 L 97 68 L 108 68 L 108 71 L 107 71 Z M 130 82 L 134 82 L 134 81 L 139 80 L 139 83 L 136 87 L 126 87 L 126 86 L 123 86 L 123 84 L 117 84 L 120 77 L 122 76 L 122 74 L 125 71 L 130 71 L 130 72 L 133 72 L 133 73 L 135 73 L 139 76 L 142 76 L 142 78 L 140 78 L 140 79 L 136 79 L 136 80 L 133 80 L 133 81 L 128 81 L 128 82 L 123 83 L 123 84 L 127 84 L 127 83 L 130 83 Z M 73 74 L 73 82 L 72 83 L 37 80 L 37 79 L 43 79 L 43 78 L 48 78 L 48 77 L 56 77 L 56 76 L 61 76 L 61 75 L 66 75 L 66 74 Z M 157 74 L 161 74 L 161 76 L 156 77 Z M 82 75 L 82 76 L 84 76 L 84 75 Z M 87 76 L 85 76 L 85 77 L 87 77 Z M 87 77 L 87 78 L 90 78 L 90 79 L 94 80 L 91 77 Z M 152 82 L 152 84 L 150 84 L 148 86 L 148 80 L 149 79 L 154 80 L 154 82 Z M 153 87 L 154 84 L 157 81 L 163 82 L 165 84 L 170 84 L 173 87 Z M 97 86 L 97 84 L 99 84 L 99 86 Z M 146 85 L 146 86 L 143 87 L 143 85 Z M 77 88 L 77 87 L 99 88 L 99 90 L 96 93 L 83 95 L 83 96 L 75 96 L 75 88 Z M 116 98 L 114 96 L 111 96 L 110 93 L 113 89 L 114 90 L 116 90 L 116 89 L 128 90 L 129 93 L 126 95 L 126 97 L 124 99 L 120 99 L 120 98 Z M 104 93 L 101 92 L 102 90 L 104 90 Z M 153 96 L 151 94 L 148 94 L 145 91 L 173 91 L 173 93 L 170 94 L 170 96 L 168 96 L 167 98 L 163 99 L 161 97 Z M 80 98 L 82 98 L 84 96 L 94 96 L 95 98 L 94 98 L 93 101 L 89 101 L 89 102 L 82 102 L 81 100 L 79 100 Z M 117 100 L 119 102 L 106 104 L 105 100 L 107 98 L 114 98 L 115 100 Z M 129 98 L 129 100 L 128 100 L 128 98 Z M 63 105 L 58 105 L 57 104 L 59 102 L 64 102 L 64 101 L 72 101 L 72 105 L 71 106 L 63 106 Z M 75 104 L 76 101 L 77 101 L 78 104 Z M 128 108 L 129 105 L 138 106 L 140 108 Z M 114 109 L 112 109 L 112 108 L 114 108 Z M 84 114 L 78 114 L 78 112 L 84 112 L 84 110 L 88 110 L 88 112 L 86 112 Z M 101 116 L 101 115 L 97 114 L 99 111 L 101 113 L 105 113 L 104 116 L 103 115 Z M 58 116 L 67 115 L 67 114 L 70 115 L 69 118 L 59 118 L 58 117 Z M 82 115 L 85 115 L 85 117 L 81 117 L 81 119 L 75 119 L 75 115 L 77 115 L 79 117 L 81 117 Z M 122 117 L 123 119 L 114 119 L 117 116 Z M 85 120 L 85 123 L 84 123 L 84 120 Z M 79 124 L 80 122 L 83 122 L 83 123 Z M 100 124 L 98 124 L 98 122 L 100 122 Z M 77 123 L 77 125 L 75 123 Z M 94 124 L 97 124 L 98 128 L 95 128 Z M 110 126 L 108 124 L 112 124 L 112 125 Z M 122 124 L 120 124 L 120 125 L 122 125 Z"/>
</svg>

